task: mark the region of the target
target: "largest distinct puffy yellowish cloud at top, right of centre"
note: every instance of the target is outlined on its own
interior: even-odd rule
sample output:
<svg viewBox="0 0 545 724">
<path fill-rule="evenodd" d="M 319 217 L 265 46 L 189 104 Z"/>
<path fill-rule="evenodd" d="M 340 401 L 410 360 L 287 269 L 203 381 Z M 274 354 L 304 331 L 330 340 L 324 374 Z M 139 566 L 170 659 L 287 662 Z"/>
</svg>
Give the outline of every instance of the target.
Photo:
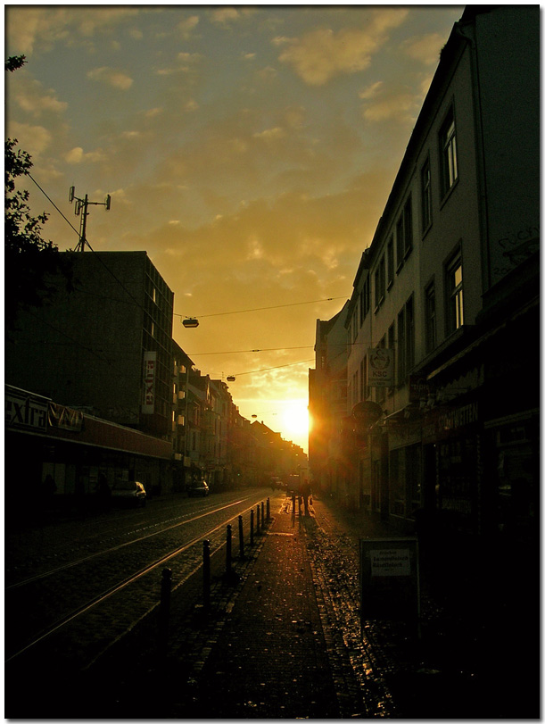
<svg viewBox="0 0 545 724">
<path fill-rule="evenodd" d="M 365 71 L 386 42 L 388 31 L 397 28 L 407 14 L 405 9 L 376 10 L 362 29 L 316 29 L 293 40 L 277 37 L 273 43 L 285 44 L 280 62 L 292 66 L 308 85 L 322 86 L 341 73 Z"/>
</svg>

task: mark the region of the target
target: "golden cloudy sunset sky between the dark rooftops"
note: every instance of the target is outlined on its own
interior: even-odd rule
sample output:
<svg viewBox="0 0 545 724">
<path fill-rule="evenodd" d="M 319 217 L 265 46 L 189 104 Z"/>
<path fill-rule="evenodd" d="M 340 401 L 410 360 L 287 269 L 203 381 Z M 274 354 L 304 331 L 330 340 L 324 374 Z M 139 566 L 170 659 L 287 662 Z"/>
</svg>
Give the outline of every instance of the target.
<svg viewBox="0 0 545 724">
<path fill-rule="evenodd" d="M 463 6 L 4 8 L 5 57 L 27 58 L 5 136 L 43 237 L 78 244 L 71 186 L 109 194 L 91 247 L 145 250 L 197 369 L 307 451 L 316 321 L 351 296 Z"/>
</svg>

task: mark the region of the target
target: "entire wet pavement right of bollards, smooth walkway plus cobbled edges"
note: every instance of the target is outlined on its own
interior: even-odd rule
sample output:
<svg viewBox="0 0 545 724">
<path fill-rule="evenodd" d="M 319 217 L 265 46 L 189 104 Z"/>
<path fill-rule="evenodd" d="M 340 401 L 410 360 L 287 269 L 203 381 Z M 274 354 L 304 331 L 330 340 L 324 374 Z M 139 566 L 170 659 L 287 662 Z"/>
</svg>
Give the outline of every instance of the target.
<svg viewBox="0 0 545 724">
<path fill-rule="evenodd" d="M 358 540 L 389 537 L 387 530 L 328 500 L 314 500 L 311 515 L 301 518 L 292 518 L 287 499 L 271 501 L 266 535 L 235 562 L 232 577 L 213 576 L 211 611 L 197 605 L 182 615 L 177 591 L 167 653 L 149 617 L 73 682 L 76 710 L 67 716 L 420 720 L 539 713 L 535 677 L 513 659 L 522 647 L 496 645 L 483 656 L 474 632 L 462 632 L 425 591 L 424 637 L 388 621 L 365 622 L 362 630 Z M 502 651 L 506 658 L 497 656 Z"/>
</svg>

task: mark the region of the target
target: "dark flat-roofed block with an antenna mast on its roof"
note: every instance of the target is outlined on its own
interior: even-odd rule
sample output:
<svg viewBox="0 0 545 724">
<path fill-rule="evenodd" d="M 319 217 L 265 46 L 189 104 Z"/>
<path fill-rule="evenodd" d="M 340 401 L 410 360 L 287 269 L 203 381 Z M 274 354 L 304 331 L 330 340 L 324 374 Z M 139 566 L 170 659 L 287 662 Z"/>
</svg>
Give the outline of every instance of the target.
<svg viewBox="0 0 545 724">
<path fill-rule="evenodd" d="M 19 314 L 5 381 L 170 439 L 172 291 L 145 252 L 62 254 L 73 289 Z"/>
</svg>

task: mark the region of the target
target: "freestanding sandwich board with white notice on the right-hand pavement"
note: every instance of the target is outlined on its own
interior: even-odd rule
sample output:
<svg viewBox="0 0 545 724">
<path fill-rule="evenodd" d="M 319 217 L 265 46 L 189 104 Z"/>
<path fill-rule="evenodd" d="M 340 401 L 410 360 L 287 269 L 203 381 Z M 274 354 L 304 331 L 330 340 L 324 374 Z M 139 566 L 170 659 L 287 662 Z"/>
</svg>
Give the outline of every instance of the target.
<svg viewBox="0 0 545 724">
<path fill-rule="evenodd" d="M 361 620 L 418 622 L 420 583 L 417 538 L 359 540 Z"/>
</svg>

